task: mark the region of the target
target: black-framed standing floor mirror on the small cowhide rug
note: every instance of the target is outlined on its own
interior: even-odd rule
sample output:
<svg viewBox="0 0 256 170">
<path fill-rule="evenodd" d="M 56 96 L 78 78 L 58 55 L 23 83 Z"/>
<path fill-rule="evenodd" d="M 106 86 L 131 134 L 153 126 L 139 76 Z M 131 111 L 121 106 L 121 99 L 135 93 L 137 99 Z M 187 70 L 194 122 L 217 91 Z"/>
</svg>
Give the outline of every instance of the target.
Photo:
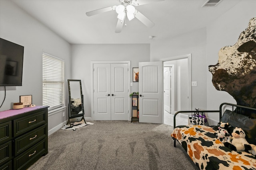
<svg viewBox="0 0 256 170">
<path fill-rule="evenodd" d="M 82 117 L 84 120 L 84 97 L 82 93 L 81 80 L 68 80 L 68 122 L 70 119 Z M 70 124 L 71 126 L 71 124 Z"/>
</svg>

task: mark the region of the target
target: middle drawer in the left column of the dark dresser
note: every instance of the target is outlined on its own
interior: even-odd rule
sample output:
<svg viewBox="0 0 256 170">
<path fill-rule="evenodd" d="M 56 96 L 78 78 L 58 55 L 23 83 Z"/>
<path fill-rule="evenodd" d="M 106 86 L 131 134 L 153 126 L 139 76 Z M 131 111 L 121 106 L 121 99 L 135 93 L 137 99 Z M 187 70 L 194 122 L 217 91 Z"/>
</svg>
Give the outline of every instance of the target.
<svg viewBox="0 0 256 170">
<path fill-rule="evenodd" d="M 12 141 L 0 145 L 0 164 L 11 160 L 12 158 Z"/>
</svg>

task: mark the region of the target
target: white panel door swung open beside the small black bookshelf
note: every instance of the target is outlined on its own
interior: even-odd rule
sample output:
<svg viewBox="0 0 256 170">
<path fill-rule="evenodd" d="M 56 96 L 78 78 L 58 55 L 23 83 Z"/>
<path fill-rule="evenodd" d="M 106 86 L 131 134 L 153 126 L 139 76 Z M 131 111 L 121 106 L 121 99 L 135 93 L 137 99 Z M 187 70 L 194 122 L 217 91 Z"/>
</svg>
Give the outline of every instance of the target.
<svg viewBox="0 0 256 170">
<path fill-rule="evenodd" d="M 139 122 L 163 123 L 162 62 L 141 62 L 139 72 Z"/>
</svg>

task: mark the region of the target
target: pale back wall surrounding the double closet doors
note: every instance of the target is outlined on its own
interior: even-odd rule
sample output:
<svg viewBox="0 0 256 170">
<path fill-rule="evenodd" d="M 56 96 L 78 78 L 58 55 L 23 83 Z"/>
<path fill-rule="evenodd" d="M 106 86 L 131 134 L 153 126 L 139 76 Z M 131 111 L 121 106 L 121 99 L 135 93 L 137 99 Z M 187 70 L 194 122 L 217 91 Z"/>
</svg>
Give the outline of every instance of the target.
<svg viewBox="0 0 256 170">
<path fill-rule="evenodd" d="M 131 69 L 150 61 L 150 44 L 74 44 L 71 49 L 72 78 L 81 80 L 85 117 L 91 117 L 91 61 L 131 61 Z M 132 82 L 132 71 L 130 76 Z M 138 92 L 138 82 L 131 92 Z"/>
</svg>

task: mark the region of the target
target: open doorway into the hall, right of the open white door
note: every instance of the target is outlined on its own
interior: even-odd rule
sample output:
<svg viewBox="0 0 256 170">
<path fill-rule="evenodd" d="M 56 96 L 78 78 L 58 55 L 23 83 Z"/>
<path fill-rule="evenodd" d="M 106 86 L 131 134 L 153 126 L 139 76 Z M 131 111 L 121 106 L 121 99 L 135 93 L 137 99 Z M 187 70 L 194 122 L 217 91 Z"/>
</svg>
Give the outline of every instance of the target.
<svg viewBox="0 0 256 170">
<path fill-rule="evenodd" d="M 191 54 L 161 59 L 161 61 L 164 66 L 163 122 L 172 125 L 173 115 L 177 111 L 191 110 Z M 169 76 L 170 80 L 168 80 Z M 170 105 L 170 109 L 166 105 Z M 187 115 L 181 117 L 187 119 Z"/>
</svg>

